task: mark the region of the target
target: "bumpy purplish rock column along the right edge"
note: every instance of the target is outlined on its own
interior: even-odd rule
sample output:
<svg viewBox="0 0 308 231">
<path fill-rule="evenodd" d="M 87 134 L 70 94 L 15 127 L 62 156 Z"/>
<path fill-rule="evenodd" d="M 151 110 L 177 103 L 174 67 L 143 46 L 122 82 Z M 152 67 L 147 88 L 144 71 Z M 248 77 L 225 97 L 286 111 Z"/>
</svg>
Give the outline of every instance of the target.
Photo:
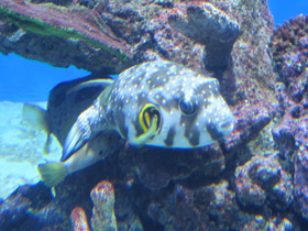
<svg viewBox="0 0 308 231">
<path fill-rule="evenodd" d="M 295 210 L 308 219 L 308 16 L 277 28 L 272 51 L 282 113 L 273 136 L 294 172 Z"/>
</svg>

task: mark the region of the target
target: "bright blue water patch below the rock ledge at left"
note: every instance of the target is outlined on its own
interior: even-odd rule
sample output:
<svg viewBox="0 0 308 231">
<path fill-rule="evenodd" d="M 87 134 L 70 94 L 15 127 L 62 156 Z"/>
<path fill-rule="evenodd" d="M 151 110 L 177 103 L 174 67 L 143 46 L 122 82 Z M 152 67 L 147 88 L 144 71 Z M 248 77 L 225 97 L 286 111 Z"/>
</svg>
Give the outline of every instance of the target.
<svg viewBox="0 0 308 231">
<path fill-rule="evenodd" d="M 48 64 L 0 54 L 0 101 L 33 102 L 47 100 L 51 89 L 61 81 L 88 75 L 86 70 L 56 68 Z"/>
</svg>

